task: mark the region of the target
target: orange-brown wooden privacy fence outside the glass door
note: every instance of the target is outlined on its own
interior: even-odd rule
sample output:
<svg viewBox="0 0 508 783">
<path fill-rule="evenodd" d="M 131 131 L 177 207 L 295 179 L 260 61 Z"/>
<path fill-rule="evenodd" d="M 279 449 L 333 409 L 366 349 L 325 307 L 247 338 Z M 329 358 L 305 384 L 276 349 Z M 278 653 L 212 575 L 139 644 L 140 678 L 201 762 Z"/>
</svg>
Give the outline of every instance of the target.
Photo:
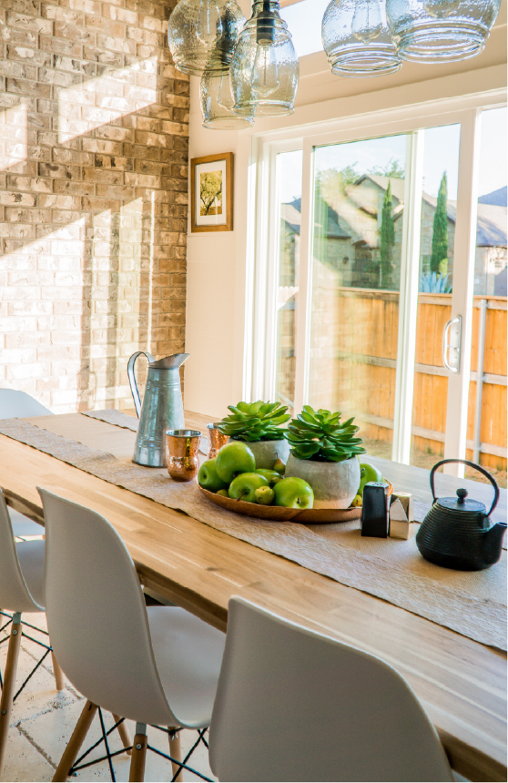
<svg viewBox="0 0 508 783">
<path fill-rule="evenodd" d="M 399 294 L 337 287 L 320 288 L 319 297 L 317 293 L 310 404 L 354 414 L 364 438 L 391 442 Z M 437 455 L 443 451 L 448 392 L 442 330 L 451 318 L 451 304 L 451 294 L 418 298 L 412 447 Z M 505 297 L 474 297 L 467 456 L 498 470 L 506 470 L 506 327 Z M 481 399 L 476 411 L 477 389 Z"/>
</svg>

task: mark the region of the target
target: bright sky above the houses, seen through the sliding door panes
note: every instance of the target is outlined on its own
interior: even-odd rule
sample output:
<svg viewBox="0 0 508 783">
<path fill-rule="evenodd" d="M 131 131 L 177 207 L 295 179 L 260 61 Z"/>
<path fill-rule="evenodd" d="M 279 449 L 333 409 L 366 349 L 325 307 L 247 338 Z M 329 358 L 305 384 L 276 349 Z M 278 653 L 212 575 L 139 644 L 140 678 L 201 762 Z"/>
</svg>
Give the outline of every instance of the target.
<svg viewBox="0 0 508 783">
<path fill-rule="evenodd" d="M 290 6 L 291 7 L 291 6 Z M 483 112 L 480 148 L 480 183 L 478 195 L 503 188 L 507 181 L 506 165 L 507 109 L 496 108 Z M 456 200 L 459 173 L 460 126 L 427 128 L 424 132 L 423 190 L 437 197 L 446 171 L 448 198 Z M 372 167 L 384 166 L 391 159 L 406 165 L 405 135 L 367 139 L 345 144 L 334 144 L 316 149 L 317 170 L 355 166 L 359 173 Z M 301 195 L 301 152 L 283 153 L 280 161 L 280 189 L 282 202 Z"/>
</svg>

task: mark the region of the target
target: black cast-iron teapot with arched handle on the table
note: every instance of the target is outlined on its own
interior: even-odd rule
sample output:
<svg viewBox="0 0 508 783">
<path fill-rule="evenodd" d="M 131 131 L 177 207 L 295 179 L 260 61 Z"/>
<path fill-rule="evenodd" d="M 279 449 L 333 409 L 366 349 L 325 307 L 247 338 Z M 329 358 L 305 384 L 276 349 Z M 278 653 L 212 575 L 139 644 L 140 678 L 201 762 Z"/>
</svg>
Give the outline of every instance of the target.
<svg viewBox="0 0 508 783">
<path fill-rule="evenodd" d="M 467 490 L 458 489 L 457 497 L 436 498 L 434 473 L 447 463 L 463 463 L 483 473 L 493 484 L 493 504 L 488 514 L 477 500 L 466 498 Z M 489 517 L 498 500 L 499 487 L 493 476 L 480 465 L 467 460 L 442 460 L 431 471 L 434 502 L 416 534 L 416 545 L 426 560 L 460 571 L 481 571 L 501 557 L 505 522 L 490 526 Z"/>
</svg>

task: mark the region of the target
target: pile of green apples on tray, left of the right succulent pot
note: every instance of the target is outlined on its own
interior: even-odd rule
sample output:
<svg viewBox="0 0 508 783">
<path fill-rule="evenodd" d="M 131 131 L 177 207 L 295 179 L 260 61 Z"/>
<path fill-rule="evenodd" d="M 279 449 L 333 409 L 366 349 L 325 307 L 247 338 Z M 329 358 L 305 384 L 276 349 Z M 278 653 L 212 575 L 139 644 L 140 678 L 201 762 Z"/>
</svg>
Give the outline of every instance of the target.
<svg viewBox="0 0 508 783">
<path fill-rule="evenodd" d="M 286 465 L 276 460 L 273 470 L 256 468 L 256 459 L 245 442 L 222 446 L 214 460 L 207 460 L 198 473 L 198 484 L 208 492 L 261 505 L 312 508 L 314 493 L 309 483 L 284 478 Z"/>
</svg>

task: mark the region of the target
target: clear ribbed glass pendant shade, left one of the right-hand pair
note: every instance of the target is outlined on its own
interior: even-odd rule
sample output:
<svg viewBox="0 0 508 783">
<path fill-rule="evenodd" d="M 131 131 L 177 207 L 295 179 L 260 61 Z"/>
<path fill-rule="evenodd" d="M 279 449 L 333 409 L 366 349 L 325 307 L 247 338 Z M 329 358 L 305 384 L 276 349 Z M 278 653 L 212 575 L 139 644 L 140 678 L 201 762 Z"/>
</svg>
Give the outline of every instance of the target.
<svg viewBox="0 0 508 783">
<path fill-rule="evenodd" d="M 401 67 L 388 28 L 385 0 L 331 0 L 323 16 L 321 37 L 337 76 L 386 76 Z"/>
</svg>

